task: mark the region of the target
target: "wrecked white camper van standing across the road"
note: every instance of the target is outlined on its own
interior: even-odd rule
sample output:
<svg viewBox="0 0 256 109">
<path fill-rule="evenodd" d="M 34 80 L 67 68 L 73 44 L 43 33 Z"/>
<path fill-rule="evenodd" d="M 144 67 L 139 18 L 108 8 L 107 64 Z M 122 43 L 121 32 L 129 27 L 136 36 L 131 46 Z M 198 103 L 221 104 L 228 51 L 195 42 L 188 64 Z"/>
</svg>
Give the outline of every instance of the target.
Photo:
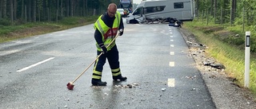
<svg viewBox="0 0 256 109">
<path fill-rule="evenodd" d="M 193 21 L 194 0 L 159 0 L 140 3 L 126 23 Z"/>
</svg>

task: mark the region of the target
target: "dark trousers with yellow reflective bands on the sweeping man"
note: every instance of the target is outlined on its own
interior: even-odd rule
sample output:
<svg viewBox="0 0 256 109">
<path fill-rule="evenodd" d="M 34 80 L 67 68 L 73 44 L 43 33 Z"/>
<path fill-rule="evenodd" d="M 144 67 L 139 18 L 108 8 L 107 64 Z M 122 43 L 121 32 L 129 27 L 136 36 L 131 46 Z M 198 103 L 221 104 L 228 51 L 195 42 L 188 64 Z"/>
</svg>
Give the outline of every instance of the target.
<svg viewBox="0 0 256 109">
<path fill-rule="evenodd" d="M 99 55 L 102 52 L 97 51 L 97 55 Z M 106 63 L 106 59 L 108 60 L 112 72 L 112 76 L 122 76 L 121 71 L 119 68 L 119 56 L 118 56 L 118 48 L 117 45 L 114 45 L 110 51 L 108 51 L 105 54 L 102 54 L 102 56 L 98 57 L 98 60 L 95 61 L 94 64 L 94 71 L 93 71 L 93 80 L 101 80 L 102 79 L 102 71 L 103 66 Z"/>
</svg>

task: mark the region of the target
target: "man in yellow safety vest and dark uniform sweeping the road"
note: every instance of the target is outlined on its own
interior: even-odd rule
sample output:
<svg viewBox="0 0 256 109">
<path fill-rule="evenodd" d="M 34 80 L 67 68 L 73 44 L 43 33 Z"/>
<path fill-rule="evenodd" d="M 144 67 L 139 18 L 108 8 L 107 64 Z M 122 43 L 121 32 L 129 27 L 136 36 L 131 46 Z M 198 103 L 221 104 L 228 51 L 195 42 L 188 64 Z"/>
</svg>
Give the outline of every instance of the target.
<svg viewBox="0 0 256 109">
<path fill-rule="evenodd" d="M 122 22 L 121 14 L 117 11 L 117 6 L 110 3 L 107 8 L 106 14 L 102 14 L 94 23 L 94 38 L 97 46 L 97 55 L 103 53 L 102 56 L 94 63 L 93 75 L 91 84 L 94 86 L 106 86 L 106 82 L 102 81 L 103 65 L 108 60 L 112 72 L 113 80 L 127 80 L 122 76 L 119 68 L 118 48 L 113 42 L 108 48 L 107 45 L 114 39 L 119 30 L 119 36 L 122 36 L 124 25 Z"/>
</svg>

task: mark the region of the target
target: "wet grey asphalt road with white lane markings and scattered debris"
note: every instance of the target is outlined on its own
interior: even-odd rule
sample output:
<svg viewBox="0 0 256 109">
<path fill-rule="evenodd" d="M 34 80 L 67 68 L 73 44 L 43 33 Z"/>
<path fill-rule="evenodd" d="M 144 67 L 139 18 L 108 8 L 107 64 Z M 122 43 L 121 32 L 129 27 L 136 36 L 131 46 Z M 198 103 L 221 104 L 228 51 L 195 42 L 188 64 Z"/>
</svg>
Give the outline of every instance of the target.
<svg viewBox="0 0 256 109">
<path fill-rule="evenodd" d="M 128 25 L 116 41 L 123 76 L 92 87 L 93 25 L 0 44 L 0 108 L 214 109 L 206 84 L 178 29 L 168 24 Z M 129 88 L 128 86 L 131 86 Z"/>
</svg>

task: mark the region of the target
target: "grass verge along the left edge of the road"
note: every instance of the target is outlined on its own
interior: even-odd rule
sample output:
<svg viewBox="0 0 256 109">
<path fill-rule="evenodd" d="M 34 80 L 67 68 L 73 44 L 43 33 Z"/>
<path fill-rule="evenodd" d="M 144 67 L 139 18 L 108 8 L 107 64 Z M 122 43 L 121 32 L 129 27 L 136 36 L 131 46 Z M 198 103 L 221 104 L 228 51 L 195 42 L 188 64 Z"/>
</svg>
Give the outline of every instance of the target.
<svg viewBox="0 0 256 109">
<path fill-rule="evenodd" d="M 87 18 L 70 17 L 58 22 L 30 22 L 22 25 L 0 25 L 0 43 L 13 41 L 23 37 L 30 37 L 43 33 L 50 33 L 63 29 L 94 23 L 98 16 Z"/>
</svg>

